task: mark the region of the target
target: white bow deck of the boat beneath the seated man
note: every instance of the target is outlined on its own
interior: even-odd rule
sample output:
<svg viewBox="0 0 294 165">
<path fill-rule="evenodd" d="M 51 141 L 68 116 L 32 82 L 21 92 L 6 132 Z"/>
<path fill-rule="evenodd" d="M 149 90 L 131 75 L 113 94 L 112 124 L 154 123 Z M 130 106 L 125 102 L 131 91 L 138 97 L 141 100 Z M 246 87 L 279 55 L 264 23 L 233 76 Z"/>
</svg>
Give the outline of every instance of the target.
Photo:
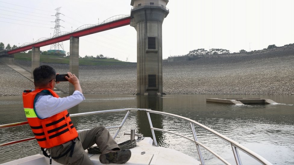
<svg viewBox="0 0 294 165">
<path fill-rule="evenodd" d="M 132 156 L 130 160 L 125 163 L 126 165 L 159 165 L 159 164 L 201 164 L 198 160 L 183 154 L 179 151 L 175 151 L 169 148 L 152 146 L 152 139 L 145 137 L 140 142 L 137 142 L 137 147 L 131 148 Z M 86 152 L 88 152 L 86 150 Z M 102 165 L 99 161 L 100 154 L 88 154 L 94 165 Z M 43 154 L 36 154 L 29 157 L 24 157 L 18 160 L 14 160 L 2 165 L 32 165 L 32 164 L 48 164 L 49 158 Z M 52 160 L 53 165 L 60 165 Z"/>
</svg>

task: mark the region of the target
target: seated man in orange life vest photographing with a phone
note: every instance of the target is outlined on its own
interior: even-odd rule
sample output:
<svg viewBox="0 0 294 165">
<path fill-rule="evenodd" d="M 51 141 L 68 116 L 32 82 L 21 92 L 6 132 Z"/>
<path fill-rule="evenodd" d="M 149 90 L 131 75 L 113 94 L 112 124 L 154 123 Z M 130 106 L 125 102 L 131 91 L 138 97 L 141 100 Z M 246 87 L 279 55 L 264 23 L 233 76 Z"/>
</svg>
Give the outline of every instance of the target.
<svg viewBox="0 0 294 165">
<path fill-rule="evenodd" d="M 91 130 L 77 133 L 68 108 L 82 102 L 85 98 L 82 93 L 79 79 L 70 72 L 65 77 L 73 84 L 75 91 L 67 97 L 59 97 L 54 91 L 56 72 L 51 66 L 39 66 L 33 71 L 35 90 L 23 92 L 23 107 L 29 125 L 37 142 L 48 156 L 61 164 L 93 164 L 86 148 L 95 143 L 101 149 L 100 162 L 103 164 L 126 163 L 131 157 L 130 150 L 120 150 L 117 143 L 104 126 L 96 126 Z"/>
</svg>

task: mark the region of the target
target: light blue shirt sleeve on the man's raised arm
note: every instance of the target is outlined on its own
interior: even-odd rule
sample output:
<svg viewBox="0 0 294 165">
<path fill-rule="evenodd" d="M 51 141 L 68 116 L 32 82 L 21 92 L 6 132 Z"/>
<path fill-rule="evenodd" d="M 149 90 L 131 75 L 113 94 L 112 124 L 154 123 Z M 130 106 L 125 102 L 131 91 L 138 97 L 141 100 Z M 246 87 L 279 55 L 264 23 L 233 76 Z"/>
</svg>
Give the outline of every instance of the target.
<svg viewBox="0 0 294 165">
<path fill-rule="evenodd" d="M 35 103 L 35 110 L 39 118 L 48 118 L 66 109 L 78 105 L 85 99 L 83 93 L 76 90 L 67 97 L 40 96 Z"/>
</svg>

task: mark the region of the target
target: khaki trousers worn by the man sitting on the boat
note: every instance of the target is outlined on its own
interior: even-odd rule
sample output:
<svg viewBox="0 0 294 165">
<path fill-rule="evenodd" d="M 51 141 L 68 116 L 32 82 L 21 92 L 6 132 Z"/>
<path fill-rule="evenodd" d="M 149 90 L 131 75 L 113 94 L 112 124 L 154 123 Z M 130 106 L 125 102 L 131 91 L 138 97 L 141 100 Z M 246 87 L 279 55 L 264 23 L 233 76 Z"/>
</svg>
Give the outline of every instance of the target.
<svg viewBox="0 0 294 165">
<path fill-rule="evenodd" d="M 55 159 L 55 161 L 61 164 L 92 165 L 93 163 L 85 152 L 85 149 L 91 147 L 95 143 L 101 149 L 102 153 L 118 148 L 117 143 L 104 126 L 96 126 L 91 130 L 80 132 L 78 138 L 74 139 L 74 141 L 76 144 L 72 157 L 69 156 L 70 152 L 68 152 L 65 156 Z M 65 153 L 68 148 L 71 147 L 71 144 L 72 141 L 49 148 L 48 151 L 52 157 L 58 157 Z"/>
</svg>

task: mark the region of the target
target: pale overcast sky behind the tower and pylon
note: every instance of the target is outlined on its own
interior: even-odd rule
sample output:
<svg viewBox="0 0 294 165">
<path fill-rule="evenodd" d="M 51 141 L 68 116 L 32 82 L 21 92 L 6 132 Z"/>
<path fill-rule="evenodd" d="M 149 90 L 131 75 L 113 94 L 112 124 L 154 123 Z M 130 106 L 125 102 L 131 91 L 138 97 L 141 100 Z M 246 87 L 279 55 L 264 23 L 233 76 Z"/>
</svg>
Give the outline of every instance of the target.
<svg viewBox="0 0 294 165">
<path fill-rule="evenodd" d="M 61 31 L 130 14 L 131 0 L 0 0 L 0 42 L 19 46 L 54 33 L 55 9 Z M 164 19 L 163 58 L 190 50 L 261 50 L 294 43 L 293 0 L 170 0 Z M 53 21 L 53 22 L 52 22 Z M 69 41 L 64 41 L 69 51 Z M 42 51 L 50 46 L 41 47 Z M 123 26 L 80 37 L 80 56 L 104 56 L 136 62 L 136 30 Z"/>
</svg>

